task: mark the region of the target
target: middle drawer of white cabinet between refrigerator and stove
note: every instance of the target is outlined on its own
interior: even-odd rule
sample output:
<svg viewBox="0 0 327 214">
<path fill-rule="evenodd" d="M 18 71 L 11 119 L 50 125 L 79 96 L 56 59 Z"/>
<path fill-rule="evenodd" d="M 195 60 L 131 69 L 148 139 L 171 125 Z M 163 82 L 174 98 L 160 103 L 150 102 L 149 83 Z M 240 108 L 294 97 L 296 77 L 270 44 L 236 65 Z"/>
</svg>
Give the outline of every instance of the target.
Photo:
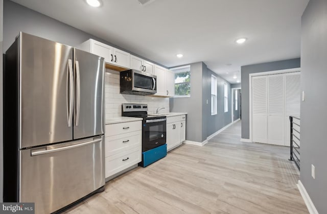
<svg viewBox="0 0 327 214">
<path fill-rule="evenodd" d="M 138 147 L 142 148 L 142 131 L 113 135 L 105 138 L 105 157 Z"/>
</svg>

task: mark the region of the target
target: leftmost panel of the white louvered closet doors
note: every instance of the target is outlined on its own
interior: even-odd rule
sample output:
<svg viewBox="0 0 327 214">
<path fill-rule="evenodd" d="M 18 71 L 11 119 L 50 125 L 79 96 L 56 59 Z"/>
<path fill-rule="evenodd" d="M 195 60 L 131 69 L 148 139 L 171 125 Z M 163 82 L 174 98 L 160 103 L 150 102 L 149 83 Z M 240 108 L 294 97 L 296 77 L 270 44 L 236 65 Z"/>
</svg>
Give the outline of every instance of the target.
<svg viewBox="0 0 327 214">
<path fill-rule="evenodd" d="M 267 143 L 267 77 L 252 77 L 252 141 Z"/>
</svg>

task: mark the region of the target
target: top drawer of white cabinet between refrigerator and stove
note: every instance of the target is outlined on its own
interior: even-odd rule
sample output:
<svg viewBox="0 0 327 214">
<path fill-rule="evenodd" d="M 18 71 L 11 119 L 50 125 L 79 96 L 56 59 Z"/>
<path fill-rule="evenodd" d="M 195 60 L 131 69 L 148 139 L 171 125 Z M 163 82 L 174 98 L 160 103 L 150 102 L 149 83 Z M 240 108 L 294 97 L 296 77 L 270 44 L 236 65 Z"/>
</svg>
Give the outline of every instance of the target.
<svg viewBox="0 0 327 214">
<path fill-rule="evenodd" d="M 106 125 L 106 136 L 142 130 L 142 121 Z"/>
</svg>

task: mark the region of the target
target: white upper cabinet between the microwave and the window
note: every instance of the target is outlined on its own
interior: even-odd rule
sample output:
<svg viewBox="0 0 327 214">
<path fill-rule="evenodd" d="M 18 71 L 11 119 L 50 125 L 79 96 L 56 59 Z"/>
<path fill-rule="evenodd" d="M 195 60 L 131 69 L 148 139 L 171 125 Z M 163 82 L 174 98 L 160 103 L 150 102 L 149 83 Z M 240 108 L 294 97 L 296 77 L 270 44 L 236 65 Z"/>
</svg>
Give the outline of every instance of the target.
<svg viewBox="0 0 327 214">
<path fill-rule="evenodd" d="M 174 72 L 159 65 L 154 66 L 154 75 L 157 76 L 157 93 L 154 96 L 174 97 L 175 76 Z"/>
</svg>

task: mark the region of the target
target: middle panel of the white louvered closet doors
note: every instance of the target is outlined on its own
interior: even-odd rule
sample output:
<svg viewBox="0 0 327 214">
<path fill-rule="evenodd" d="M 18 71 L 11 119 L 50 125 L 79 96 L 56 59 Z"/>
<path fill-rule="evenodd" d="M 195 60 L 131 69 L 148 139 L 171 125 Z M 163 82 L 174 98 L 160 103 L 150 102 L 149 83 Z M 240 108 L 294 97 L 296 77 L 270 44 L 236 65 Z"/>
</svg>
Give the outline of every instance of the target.
<svg viewBox="0 0 327 214">
<path fill-rule="evenodd" d="M 268 144 L 285 145 L 284 74 L 268 76 Z"/>
</svg>

